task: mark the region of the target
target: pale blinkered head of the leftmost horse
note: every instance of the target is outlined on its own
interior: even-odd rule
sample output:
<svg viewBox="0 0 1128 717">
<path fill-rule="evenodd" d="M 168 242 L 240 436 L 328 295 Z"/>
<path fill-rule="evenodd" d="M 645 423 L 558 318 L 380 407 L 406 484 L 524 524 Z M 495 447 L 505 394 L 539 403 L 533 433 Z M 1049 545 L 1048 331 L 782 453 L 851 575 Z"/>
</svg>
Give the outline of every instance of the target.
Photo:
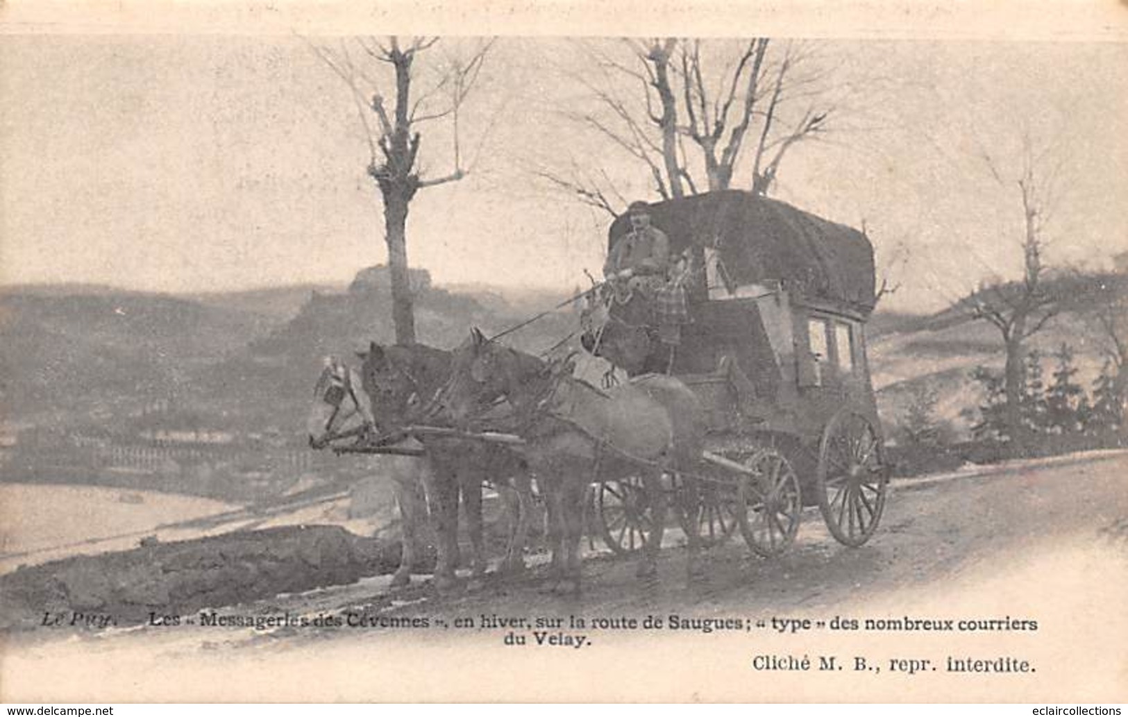
<svg viewBox="0 0 1128 717">
<path fill-rule="evenodd" d="M 362 435 L 376 425 L 371 401 L 360 386 L 360 377 L 340 358 L 325 360 L 306 418 L 311 448 L 323 449 L 333 441 Z"/>
</svg>

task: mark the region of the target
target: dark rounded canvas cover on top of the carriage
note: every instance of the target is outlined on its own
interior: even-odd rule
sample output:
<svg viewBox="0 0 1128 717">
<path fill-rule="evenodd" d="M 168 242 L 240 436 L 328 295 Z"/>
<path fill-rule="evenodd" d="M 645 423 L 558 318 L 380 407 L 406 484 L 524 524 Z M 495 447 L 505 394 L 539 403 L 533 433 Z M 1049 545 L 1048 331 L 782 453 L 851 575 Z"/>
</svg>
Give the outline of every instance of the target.
<svg viewBox="0 0 1128 717">
<path fill-rule="evenodd" d="M 659 202 L 650 213 L 670 238 L 671 254 L 715 247 L 735 285 L 777 280 L 808 298 L 873 310 L 873 246 L 856 229 L 738 191 Z M 626 215 L 616 219 L 608 248 L 629 230 Z"/>
</svg>

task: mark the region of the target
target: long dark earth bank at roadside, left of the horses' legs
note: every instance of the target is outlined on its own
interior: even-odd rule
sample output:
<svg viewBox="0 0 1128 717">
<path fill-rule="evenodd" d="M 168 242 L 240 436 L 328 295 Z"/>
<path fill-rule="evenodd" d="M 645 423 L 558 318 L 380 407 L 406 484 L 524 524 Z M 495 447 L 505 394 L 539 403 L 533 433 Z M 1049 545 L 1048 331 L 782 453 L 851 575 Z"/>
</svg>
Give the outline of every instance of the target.
<svg viewBox="0 0 1128 717">
<path fill-rule="evenodd" d="M 0 576 L 0 628 L 34 627 L 45 613 L 91 612 L 118 625 L 149 611 L 187 613 L 280 593 L 347 585 L 391 573 L 398 542 L 337 525 L 287 525 L 132 550 L 76 556 Z"/>
</svg>

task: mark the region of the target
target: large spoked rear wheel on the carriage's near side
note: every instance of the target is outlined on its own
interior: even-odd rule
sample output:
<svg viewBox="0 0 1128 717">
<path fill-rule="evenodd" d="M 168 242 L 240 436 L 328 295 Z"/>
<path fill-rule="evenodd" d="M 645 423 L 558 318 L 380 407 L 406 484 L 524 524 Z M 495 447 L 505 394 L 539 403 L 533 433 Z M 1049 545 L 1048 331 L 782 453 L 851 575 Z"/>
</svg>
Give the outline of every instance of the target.
<svg viewBox="0 0 1128 717">
<path fill-rule="evenodd" d="M 889 471 L 881 436 L 857 413 L 835 414 L 822 432 L 816 478 L 819 511 L 835 539 L 852 548 L 878 529 Z"/>
</svg>

